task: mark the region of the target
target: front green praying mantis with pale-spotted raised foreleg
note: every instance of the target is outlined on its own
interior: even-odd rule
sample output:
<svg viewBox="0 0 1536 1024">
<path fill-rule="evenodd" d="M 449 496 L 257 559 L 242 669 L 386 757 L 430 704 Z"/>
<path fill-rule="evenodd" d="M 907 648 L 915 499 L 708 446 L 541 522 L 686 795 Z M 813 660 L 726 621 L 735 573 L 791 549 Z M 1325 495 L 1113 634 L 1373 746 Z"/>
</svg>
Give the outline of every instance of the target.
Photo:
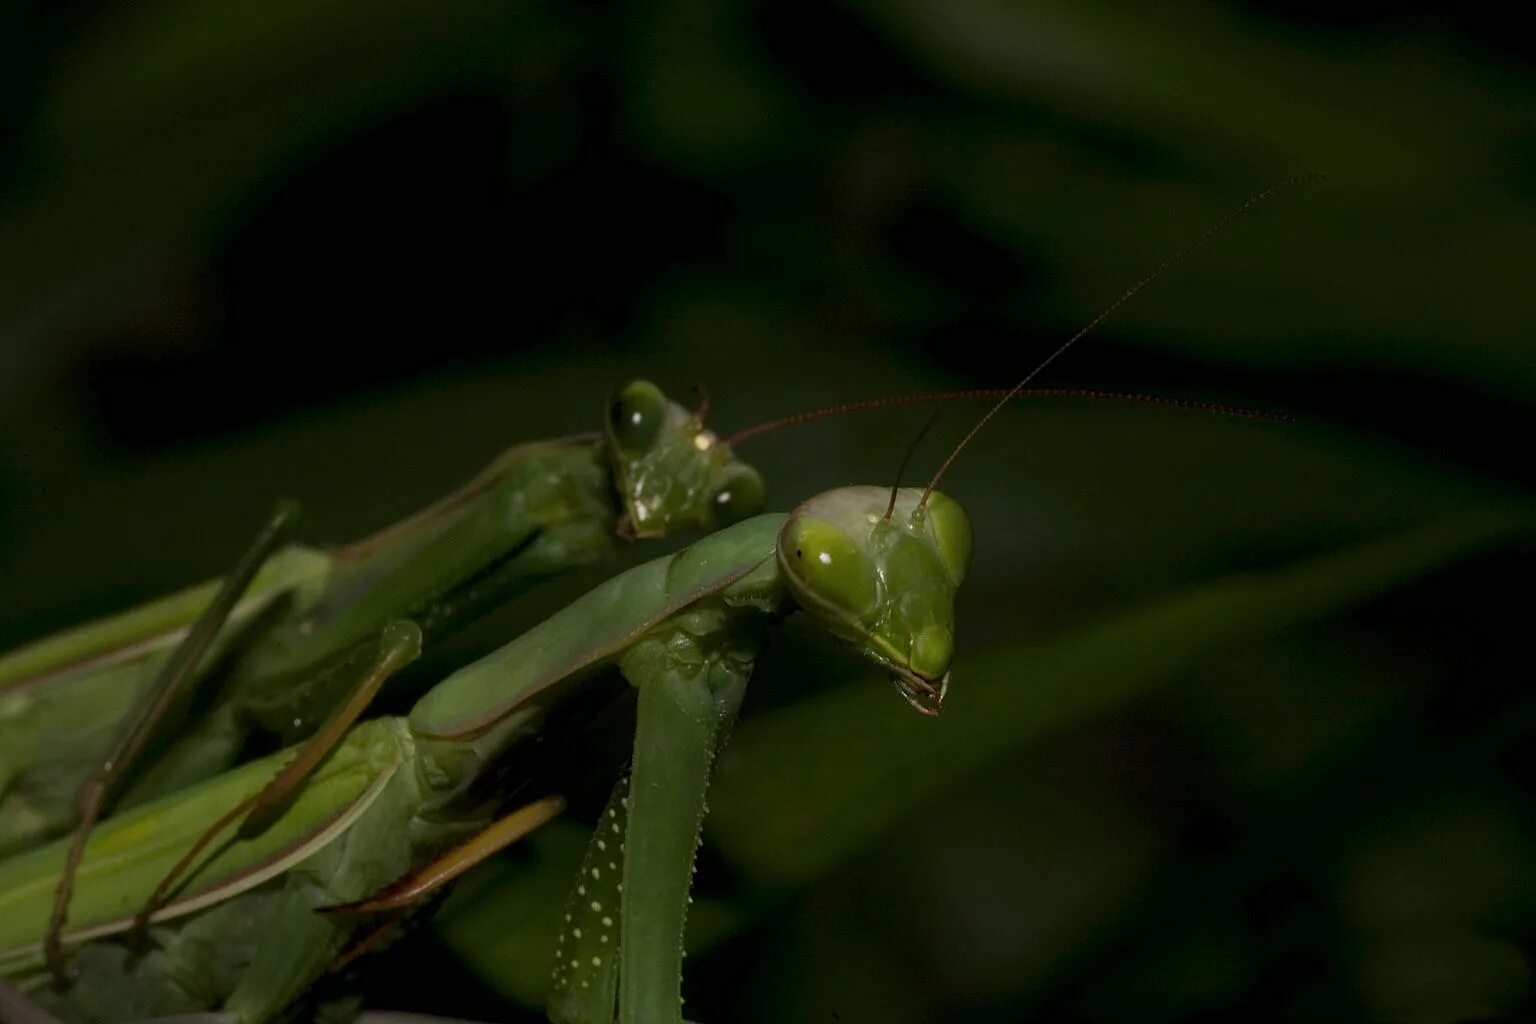
<svg viewBox="0 0 1536 1024">
<path fill-rule="evenodd" d="M 937 714 L 971 528 L 935 485 L 1001 405 L 1147 281 L 1011 388 L 928 488 L 839 488 L 624 573 L 453 672 L 409 715 L 346 731 L 275 803 L 270 780 L 301 757 L 278 754 L 108 820 L 84 843 L 65 935 L 78 946 L 78 979 L 40 1001 L 89 1019 L 283 1013 L 370 915 L 410 906 L 559 814 L 551 794 L 496 818 L 501 766 L 598 668 L 616 665 L 637 691 L 631 771 L 576 881 L 548 1010 L 573 1024 L 680 1021 L 710 765 L 774 625 L 803 611 Z M 416 623 L 390 620 L 370 685 L 419 646 Z M 23 986 L 46 979 L 43 935 L 69 860 L 57 841 L 0 864 L 0 973 Z M 135 935 L 149 952 L 134 949 Z"/>
</svg>

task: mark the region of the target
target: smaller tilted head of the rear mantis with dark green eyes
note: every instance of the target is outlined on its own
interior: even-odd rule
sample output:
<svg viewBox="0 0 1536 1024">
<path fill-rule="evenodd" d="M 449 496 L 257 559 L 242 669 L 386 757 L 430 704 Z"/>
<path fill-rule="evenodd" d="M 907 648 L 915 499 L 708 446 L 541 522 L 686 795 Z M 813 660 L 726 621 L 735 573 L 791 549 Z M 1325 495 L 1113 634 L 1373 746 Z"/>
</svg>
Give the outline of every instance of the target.
<svg viewBox="0 0 1536 1024">
<path fill-rule="evenodd" d="M 605 434 L 624 502 L 621 531 L 631 537 L 716 530 L 763 508 L 757 470 L 705 430 L 703 410 L 684 408 L 650 381 L 614 391 Z"/>
</svg>

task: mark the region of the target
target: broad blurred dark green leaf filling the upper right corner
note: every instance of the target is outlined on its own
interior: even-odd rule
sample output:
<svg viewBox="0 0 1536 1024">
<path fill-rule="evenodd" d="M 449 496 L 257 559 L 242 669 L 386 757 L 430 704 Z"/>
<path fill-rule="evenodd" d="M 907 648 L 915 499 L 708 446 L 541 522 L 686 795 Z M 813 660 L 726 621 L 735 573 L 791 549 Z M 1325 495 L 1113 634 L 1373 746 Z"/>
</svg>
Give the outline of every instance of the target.
<svg viewBox="0 0 1536 1024">
<path fill-rule="evenodd" d="M 1536 203 L 1508 187 L 1536 144 L 1525 68 L 1412 28 L 1350 46 L 1217 5 L 857 8 L 935 86 L 989 101 L 932 120 L 923 150 L 977 230 L 1048 253 L 1040 298 L 1063 324 L 1244 193 L 1315 172 L 1117 313 L 1120 330 L 1215 362 L 1536 393 L 1519 282 Z"/>
</svg>

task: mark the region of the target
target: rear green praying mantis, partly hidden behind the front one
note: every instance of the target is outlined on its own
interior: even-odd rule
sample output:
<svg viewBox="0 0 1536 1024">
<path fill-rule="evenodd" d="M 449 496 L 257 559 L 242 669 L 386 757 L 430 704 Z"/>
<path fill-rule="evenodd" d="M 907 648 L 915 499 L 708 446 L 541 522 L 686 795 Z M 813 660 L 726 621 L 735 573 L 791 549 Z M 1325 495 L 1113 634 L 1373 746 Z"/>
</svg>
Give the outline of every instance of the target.
<svg viewBox="0 0 1536 1024">
<path fill-rule="evenodd" d="M 424 642 L 619 537 L 713 530 L 762 510 L 763 482 L 656 385 L 619 388 L 601 433 L 518 445 L 416 516 L 338 548 L 278 545 L 287 511 L 209 583 L 0 659 L 0 854 L 232 765 L 252 729 L 283 742 L 382 682 L 381 628 Z M 178 660 L 180 659 L 180 660 Z M 195 686 L 180 686 L 195 683 Z M 197 689 L 174 742 L 135 763 Z M 364 699 L 358 699 L 358 695 Z M 135 711 L 135 708 L 138 711 Z M 114 746 L 117 742 L 117 746 Z M 60 921 L 68 880 L 60 898 Z"/>
</svg>

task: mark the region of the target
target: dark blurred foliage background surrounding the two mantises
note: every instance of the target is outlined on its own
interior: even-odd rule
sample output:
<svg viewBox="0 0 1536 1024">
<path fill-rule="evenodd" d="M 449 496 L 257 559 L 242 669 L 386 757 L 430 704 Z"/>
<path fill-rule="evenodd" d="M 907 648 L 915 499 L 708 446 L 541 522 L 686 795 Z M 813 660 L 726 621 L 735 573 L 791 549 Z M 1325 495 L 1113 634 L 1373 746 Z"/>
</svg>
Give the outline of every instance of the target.
<svg viewBox="0 0 1536 1024">
<path fill-rule="evenodd" d="M 786 631 L 690 1015 L 1513 1019 L 1536 74 L 1501 9 L 6 5 L 0 642 L 223 571 L 280 494 L 361 536 L 634 375 L 723 431 L 1008 385 L 1321 173 L 1041 379 L 1293 424 L 998 418 L 946 479 L 977 565 L 937 723 Z M 783 508 L 888 482 L 920 422 L 742 454 Z M 522 1019 L 574 847 L 484 872 L 372 1003 Z"/>
</svg>

